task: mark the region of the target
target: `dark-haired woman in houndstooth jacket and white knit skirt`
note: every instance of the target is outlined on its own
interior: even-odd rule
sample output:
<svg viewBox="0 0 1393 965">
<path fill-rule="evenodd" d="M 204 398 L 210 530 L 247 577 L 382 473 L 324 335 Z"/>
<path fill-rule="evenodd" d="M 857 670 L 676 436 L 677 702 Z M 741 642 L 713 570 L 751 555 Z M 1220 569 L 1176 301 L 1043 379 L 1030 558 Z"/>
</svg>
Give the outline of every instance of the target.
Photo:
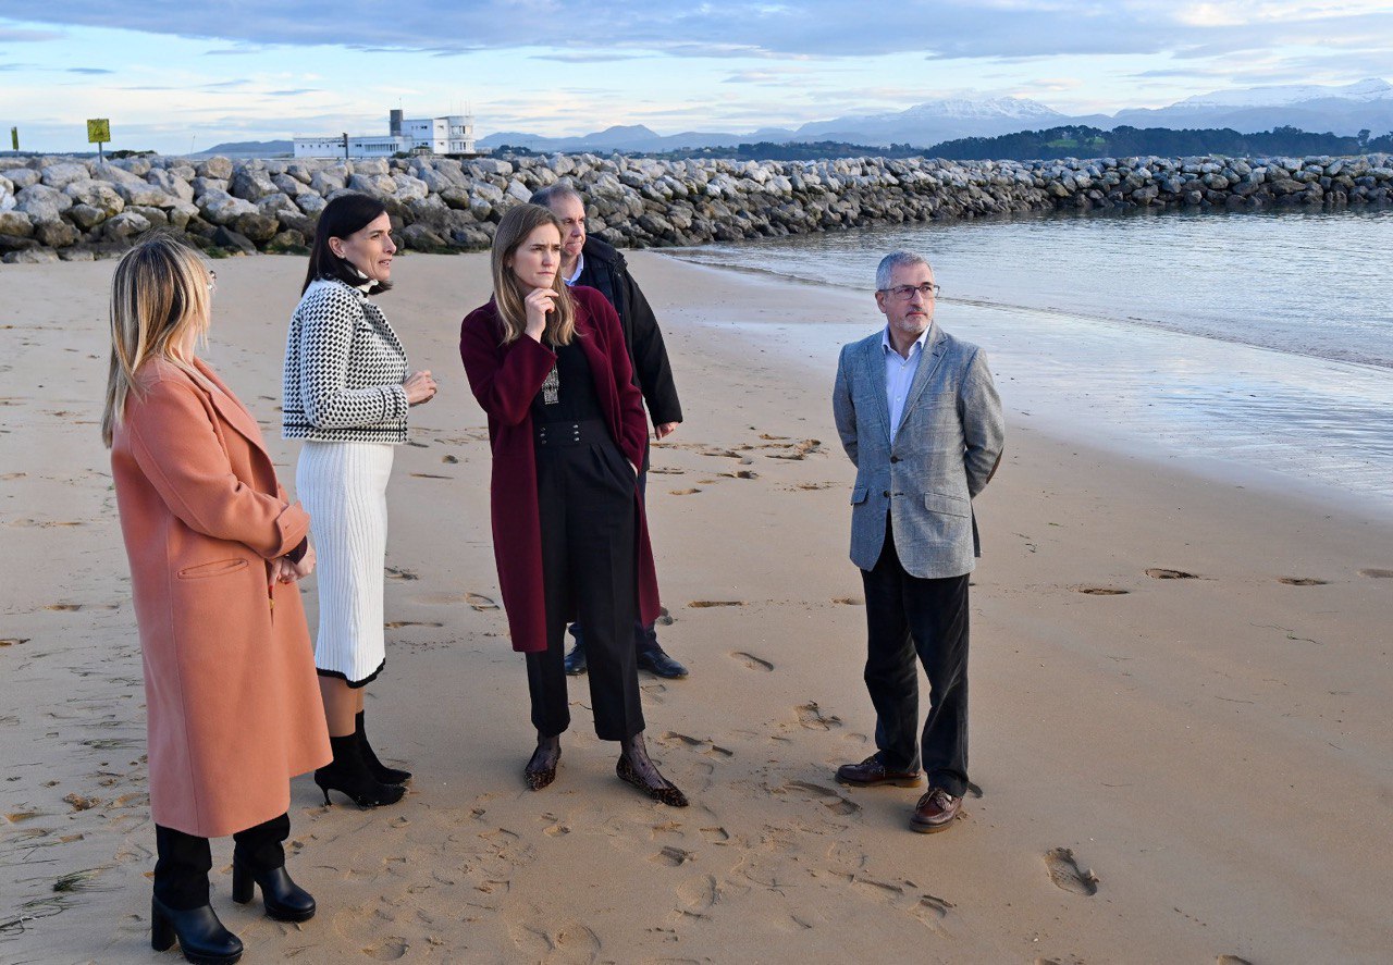
<svg viewBox="0 0 1393 965">
<path fill-rule="evenodd" d="M 362 688 L 386 663 L 382 571 L 387 478 L 407 441 L 407 411 L 436 393 L 407 376 L 407 352 L 368 295 L 391 287 L 391 221 L 382 202 L 344 194 L 315 230 L 305 287 L 286 341 L 283 434 L 302 439 L 295 489 L 319 551 L 315 666 L 334 759 L 315 771 L 325 792 L 364 808 L 394 803 L 410 771 L 384 766 L 364 730 Z"/>
</svg>

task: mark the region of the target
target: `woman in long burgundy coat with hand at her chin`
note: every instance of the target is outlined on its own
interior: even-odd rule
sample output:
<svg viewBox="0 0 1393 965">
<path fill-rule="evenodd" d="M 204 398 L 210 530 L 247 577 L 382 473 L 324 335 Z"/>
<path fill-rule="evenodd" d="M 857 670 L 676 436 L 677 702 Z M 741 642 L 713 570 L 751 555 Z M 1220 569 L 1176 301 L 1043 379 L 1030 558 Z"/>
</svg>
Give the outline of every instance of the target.
<svg viewBox="0 0 1393 965">
<path fill-rule="evenodd" d="M 493 554 L 513 649 L 527 654 L 536 751 L 528 787 L 556 778 L 570 723 L 563 638 L 591 648 L 595 732 L 618 741 L 618 776 L 666 805 L 687 797 L 644 745 L 635 617 L 657 617 L 638 469 L 648 422 L 618 317 L 593 288 L 559 277 L 561 224 L 521 205 L 493 238 L 493 298 L 464 319 L 460 358 L 489 415 Z M 595 638 L 589 634 L 595 628 Z"/>
</svg>

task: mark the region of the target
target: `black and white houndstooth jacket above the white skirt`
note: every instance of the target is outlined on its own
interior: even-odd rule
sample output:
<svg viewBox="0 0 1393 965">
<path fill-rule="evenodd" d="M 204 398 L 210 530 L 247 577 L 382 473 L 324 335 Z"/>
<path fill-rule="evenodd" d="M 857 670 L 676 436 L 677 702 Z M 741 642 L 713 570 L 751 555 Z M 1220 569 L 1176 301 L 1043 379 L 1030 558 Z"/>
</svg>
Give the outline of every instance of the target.
<svg viewBox="0 0 1393 965">
<path fill-rule="evenodd" d="M 320 278 L 286 338 L 281 434 L 315 441 L 407 441 L 407 350 L 365 294 Z"/>
</svg>

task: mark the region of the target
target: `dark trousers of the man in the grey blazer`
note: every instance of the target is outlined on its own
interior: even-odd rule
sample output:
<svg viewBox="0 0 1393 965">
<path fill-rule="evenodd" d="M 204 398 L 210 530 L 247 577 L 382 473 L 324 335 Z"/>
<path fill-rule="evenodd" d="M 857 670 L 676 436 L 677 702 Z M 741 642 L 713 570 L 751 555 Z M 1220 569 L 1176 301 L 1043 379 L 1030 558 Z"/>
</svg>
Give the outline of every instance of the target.
<svg viewBox="0 0 1393 965">
<path fill-rule="evenodd" d="M 862 570 L 866 595 L 866 691 L 875 705 L 875 742 L 890 770 L 918 770 L 953 797 L 967 791 L 968 575 L 911 576 L 894 551 L 886 518 L 885 549 Z M 915 748 L 919 674 L 929 678 L 929 716 Z"/>
</svg>

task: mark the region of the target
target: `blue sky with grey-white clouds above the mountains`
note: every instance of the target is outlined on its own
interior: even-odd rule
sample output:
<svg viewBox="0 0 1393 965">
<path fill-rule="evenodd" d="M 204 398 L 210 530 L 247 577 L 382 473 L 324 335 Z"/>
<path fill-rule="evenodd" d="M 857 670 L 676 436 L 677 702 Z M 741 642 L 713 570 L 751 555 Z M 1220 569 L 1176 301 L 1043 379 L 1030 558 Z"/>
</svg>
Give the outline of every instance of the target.
<svg viewBox="0 0 1393 965">
<path fill-rule="evenodd" d="M 752 132 L 939 97 L 1066 114 L 1393 65 L 1390 0 L 0 0 L 0 146 L 205 150 L 384 134 Z"/>
</svg>

